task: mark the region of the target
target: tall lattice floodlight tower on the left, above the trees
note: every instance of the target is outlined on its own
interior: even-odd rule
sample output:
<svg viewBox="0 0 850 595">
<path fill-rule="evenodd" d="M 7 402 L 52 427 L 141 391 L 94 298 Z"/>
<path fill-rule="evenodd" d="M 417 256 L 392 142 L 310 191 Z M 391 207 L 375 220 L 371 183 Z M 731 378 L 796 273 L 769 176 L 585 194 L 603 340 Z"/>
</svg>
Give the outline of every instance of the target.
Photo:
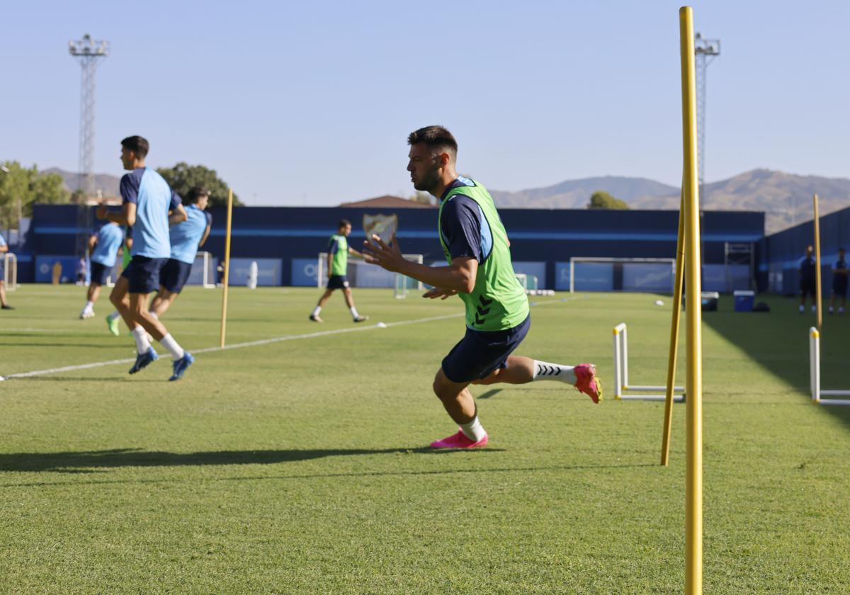
<svg viewBox="0 0 850 595">
<path fill-rule="evenodd" d="M 68 42 L 68 52 L 82 66 L 80 79 L 80 167 L 78 189 L 94 195 L 94 73 L 109 55 L 109 42 L 94 40 L 88 33 Z"/>
</svg>

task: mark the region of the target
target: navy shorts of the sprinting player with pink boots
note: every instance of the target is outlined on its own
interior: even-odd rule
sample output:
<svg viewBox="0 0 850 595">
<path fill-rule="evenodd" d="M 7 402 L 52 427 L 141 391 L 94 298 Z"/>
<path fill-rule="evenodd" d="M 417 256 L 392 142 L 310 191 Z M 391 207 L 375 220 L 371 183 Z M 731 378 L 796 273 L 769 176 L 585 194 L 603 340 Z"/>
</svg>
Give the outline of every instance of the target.
<svg viewBox="0 0 850 595">
<path fill-rule="evenodd" d="M 467 328 L 460 343 L 443 358 L 443 373 L 451 382 L 472 382 L 507 367 L 507 356 L 522 343 L 531 327 L 531 316 L 507 331 L 473 331 Z"/>
</svg>

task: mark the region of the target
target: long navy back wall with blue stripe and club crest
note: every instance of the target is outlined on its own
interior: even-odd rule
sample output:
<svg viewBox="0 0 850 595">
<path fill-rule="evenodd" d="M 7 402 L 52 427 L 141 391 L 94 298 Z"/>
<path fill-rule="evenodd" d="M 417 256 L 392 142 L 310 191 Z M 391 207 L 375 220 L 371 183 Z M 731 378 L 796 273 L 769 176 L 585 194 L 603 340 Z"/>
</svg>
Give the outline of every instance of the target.
<svg viewBox="0 0 850 595">
<path fill-rule="evenodd" d="M 94 207 L 93 207 L 94 208 Z M 203 250 L 215 258 L 224 253 L 224 209 L 212 209 L 212 232 Z M 397 214 L 399 245 L 403 252 L 422 254 L 425 263 L 442 261 L 437 240 L 437 209 L 362 209 L 310 207 L 239 207 L 233 211 L 231 258 L 270 259 L 280 285 L 301 280 L 297 268 L 293 277 L 293 259 L 315 261 L 325 252 L 328 238 L 337 221 L 347 218 L 354 231 L 349 243 L 360 249 L 363 215 Z M 502 223 L 511 240 L 511 252 L 518 272 L 536 274 L 541 285 L 564 289 L 563 276 L 570 257 L 675 258 L 678 229 L 677 211 L 589 211 L 500 209 Z M 77 234 L 77 207 L 73 205 L 36 205 L 26 238 L 26 252 L 20 259 L 21 282 L 35 279 L 35 263 L 44 256 L 72 257 Z M 702 218 L 703 262 L 722 264 L 726 242 L 757 244 L 757 264 L 764 249 L 763 212 L 706 211 Z M 58 259 L 58 258 L 57 258 Z M 65 262 L 65 261 L 64 261 Z M 73 263 L 73 258 L 70 259 Z M 301 266 L 303 261 L 297 263 Z M 524 267 L 522 263 L 529 263 Z M 29 264 L 29 266 L 27 266 Z M 523 270 L 525 268 L 525 270 Z M 762 286 L 767 281 L 763 269 Z M 235 272 L 235 269 L 234 269 Z M 544 281 L 545 278 L 545 281 Z"/>
</svg>

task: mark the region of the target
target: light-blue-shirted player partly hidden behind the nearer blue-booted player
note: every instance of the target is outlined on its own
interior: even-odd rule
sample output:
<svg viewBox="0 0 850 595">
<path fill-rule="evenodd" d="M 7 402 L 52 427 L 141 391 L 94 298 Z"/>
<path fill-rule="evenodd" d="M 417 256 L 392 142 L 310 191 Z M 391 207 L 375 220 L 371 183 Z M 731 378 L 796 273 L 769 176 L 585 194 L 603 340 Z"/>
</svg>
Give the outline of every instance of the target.
<svg viewBox="0 0 850 595">
<path fill-rule="evenodd" d="M 173 224 L 168 232 L 171 257 L 160 271 L 159 292 L 150 303 L 150 314 L 155 318 L 161 318 L 183 290 L 192 272 L 198 248 L 204 245 L 210 235 L 212 215 L 205 210 L 209 202 L 209 192 L 195 186 L 186 196 L 186 202 L 187 219 Z M 177 218 L 178 213 L 173 214 L 169 223 Z"/>
</svg>

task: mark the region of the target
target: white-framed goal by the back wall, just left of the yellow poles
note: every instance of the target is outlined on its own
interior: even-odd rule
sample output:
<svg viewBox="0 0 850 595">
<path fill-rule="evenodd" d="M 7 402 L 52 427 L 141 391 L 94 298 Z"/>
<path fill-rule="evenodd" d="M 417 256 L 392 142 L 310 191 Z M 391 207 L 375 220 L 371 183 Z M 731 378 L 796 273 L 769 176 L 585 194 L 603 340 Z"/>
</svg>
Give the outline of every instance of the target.
<svg viewBox="0 0 850 595">
<path fill-rule="evenodd" d="M 670 293 L 676 258 L 570 258 L 570 292 Z"/>
</svg>

